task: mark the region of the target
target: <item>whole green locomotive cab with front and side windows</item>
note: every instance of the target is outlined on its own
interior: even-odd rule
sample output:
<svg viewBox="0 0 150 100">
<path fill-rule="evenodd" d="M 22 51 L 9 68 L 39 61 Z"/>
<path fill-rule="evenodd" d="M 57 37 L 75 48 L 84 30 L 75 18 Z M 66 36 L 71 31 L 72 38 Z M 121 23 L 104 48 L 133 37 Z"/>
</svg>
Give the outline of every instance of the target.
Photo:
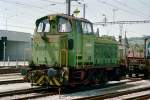
<svg viewBox="0 0 150 100">
<path fill-rule="evenodd" d="M 93 26 L 85 19 L 67 15 L 40 18 L 36 21 L 32 60 L 36 66 L 92 65 L 94 37 Z"/>
</svg>

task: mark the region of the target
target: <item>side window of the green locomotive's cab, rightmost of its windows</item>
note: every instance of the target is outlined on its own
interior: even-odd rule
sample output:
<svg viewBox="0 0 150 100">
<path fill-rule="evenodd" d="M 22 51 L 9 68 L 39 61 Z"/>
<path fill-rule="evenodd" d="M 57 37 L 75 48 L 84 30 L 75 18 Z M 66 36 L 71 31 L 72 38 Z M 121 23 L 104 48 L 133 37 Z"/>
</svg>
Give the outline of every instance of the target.
<svg viewBox="0 0 150 100">
<path fill-rule="evenodd" d="M 92 34 L 93 30 L 92 30 L 92 25 L 88 22 L 82 22 L 82 31 L 83 34 Z"/>
</svg>

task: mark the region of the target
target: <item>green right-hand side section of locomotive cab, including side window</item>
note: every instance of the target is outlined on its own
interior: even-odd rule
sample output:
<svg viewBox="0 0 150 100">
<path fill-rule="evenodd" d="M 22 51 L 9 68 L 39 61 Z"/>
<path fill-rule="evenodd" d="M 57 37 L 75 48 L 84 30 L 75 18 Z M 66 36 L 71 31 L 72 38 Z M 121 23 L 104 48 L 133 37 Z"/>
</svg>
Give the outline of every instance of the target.
<svg viewBox="0 0 150 100">
<path fill-rule="evenodd" d="M 84 65 L 92 66 L 94 63 L 94 39 L 95 39 L 92 23 L 82 21 L 81 25 L 82 25 L 83 63 Z"/>
</svg>

